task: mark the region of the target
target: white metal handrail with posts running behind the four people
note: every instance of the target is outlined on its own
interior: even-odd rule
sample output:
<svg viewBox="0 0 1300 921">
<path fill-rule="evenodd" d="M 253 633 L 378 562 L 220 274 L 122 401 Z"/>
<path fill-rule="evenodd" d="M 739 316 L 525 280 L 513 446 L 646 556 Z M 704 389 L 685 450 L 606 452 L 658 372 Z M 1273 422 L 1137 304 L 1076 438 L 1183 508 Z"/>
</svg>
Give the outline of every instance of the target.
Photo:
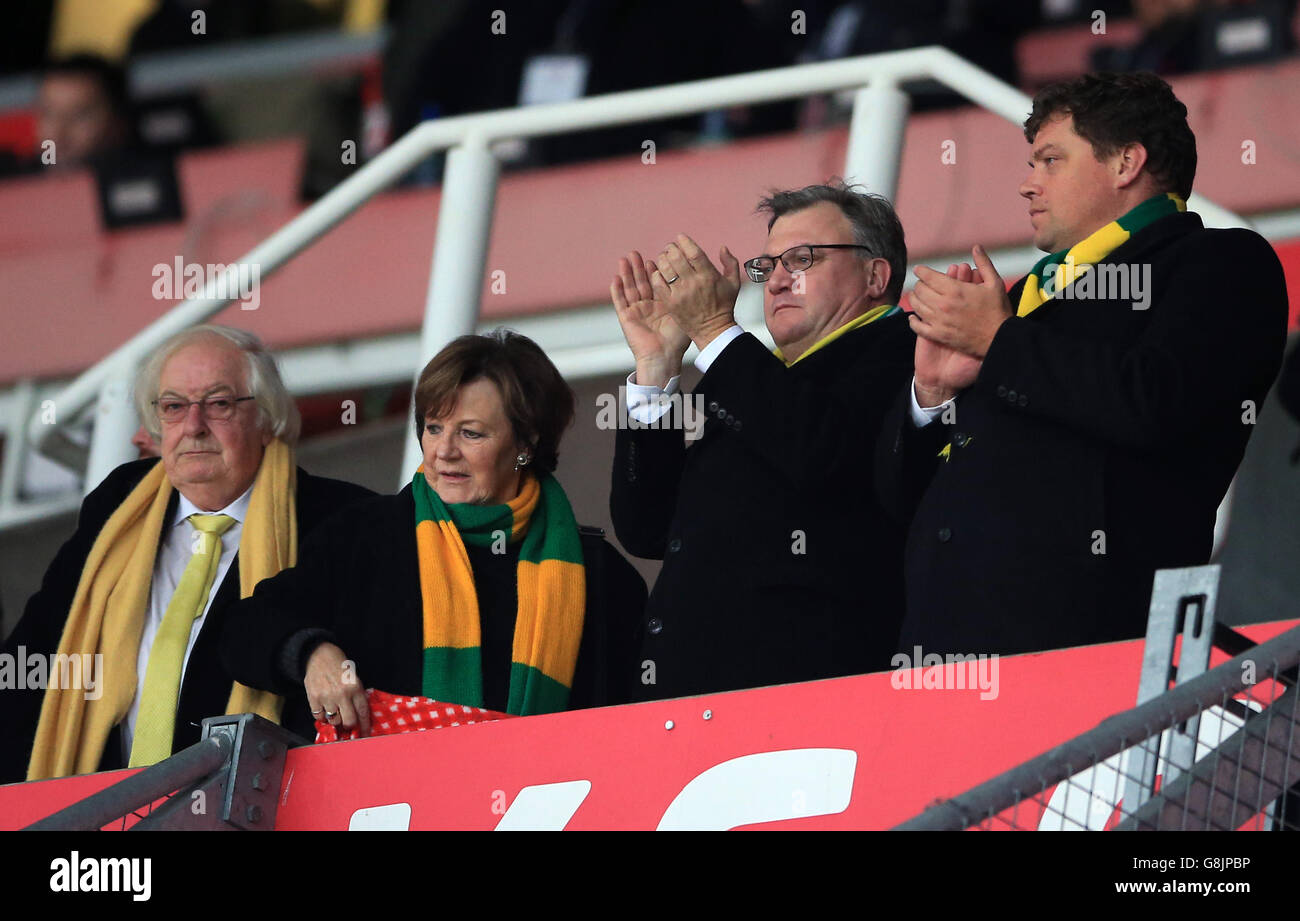
<svg viewBox="0 0 1300 921">
<path fill-rule="evenodd" d="M 1030 112 L 1031 100 L 1019 90 L 950 51 L 927 47 L 426 121 L 230 264 L 226 274 L 237 272 L 240 264 L 256 264 L 260 277 L 269 277 L 373 195 L 432 154 L 447 150 L 420 340 L 420 355 L 433 355 L 451 338 L 472 332 L 478 317 L 499 174 L 493 143 L 854 90 L 844 174 L 893 198 L 909 109 L 907 95 L 898 85 L 924 78 L 939 81 L 1015 124 Z M 1243 219 L 1199 196 L 1193 196 L 1193 203 L 1209 224 L 1247 226 Z M 70 467 L 84 463 L 84 488 L 92 489 L 114 466 L 131 457 L 130 436 L 138 421 L 130 405 L 129 381 L 135 366 L 172 334 L 225 308 L 234 299 L 226 293 L 237 290 L 238 285 L 228 284 L 225 277 L 211 280 L 203 295 L 178 303 L 88 368 L 55 397 L 53 424 L 47 424 L 40 414 L 30 419 L 25 433 L 31 444 Z M 87 451 L 65 433 L 92 407 L 96 407 L 95 423 Z M 23 432 L 12 434 L 22 438 Z M 16 449 L 10 457 L 16 455 L 21 458 L 23 451 Z M 419 446 L 410 442 L 402 470 L 413 470 L 419 459 Z M 16 475 L 6 471 L 6 476 Z"/>
</svg>

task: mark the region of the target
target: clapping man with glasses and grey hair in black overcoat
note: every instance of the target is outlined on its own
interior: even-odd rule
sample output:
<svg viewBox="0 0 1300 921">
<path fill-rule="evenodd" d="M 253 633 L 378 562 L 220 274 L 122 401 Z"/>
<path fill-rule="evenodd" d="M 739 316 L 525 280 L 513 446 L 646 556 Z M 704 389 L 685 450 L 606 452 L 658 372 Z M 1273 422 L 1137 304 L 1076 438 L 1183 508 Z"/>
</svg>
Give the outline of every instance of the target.
<svg viewBox="0 0 1300 921">
<path fill-rule="evenodd" d="M 902 225 L 850 187 L 776 193 L 764 284 L 774 355 L 736 325 L 741 267 L 681 235 L 611 286 L 636 356 L 611 513 L 628 552 L 663 559 L 646 610 L 644 696 L 781 684 L 888 666 L 901 617 L 902 532 L 872 494 L 872 446 L 909 375 L 897 312 Z M 676 397 L 686 346 L 705 371 L 686 446 Z M 673 406 L 673 401 L 676 406 Z M 668 406 L 664 411 L 664 405 Z M 649 424 L 646 424 L 649 423 Z"/>
</svg>

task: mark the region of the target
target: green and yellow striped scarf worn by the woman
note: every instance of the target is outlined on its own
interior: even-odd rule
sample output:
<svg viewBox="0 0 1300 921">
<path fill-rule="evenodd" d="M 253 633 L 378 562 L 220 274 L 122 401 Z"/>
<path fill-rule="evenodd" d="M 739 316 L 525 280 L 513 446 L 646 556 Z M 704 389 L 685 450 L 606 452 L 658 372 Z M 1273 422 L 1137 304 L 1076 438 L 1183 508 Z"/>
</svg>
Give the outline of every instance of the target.
<svg viewBox="0 0 1300 921">
<path fill-rule="evenodd" d="M 484 705 L 478 596 L 465 544 L 523 541 L 506 712 L 566 709 L 582 639 L 586 579 L 573 509 L 560 484 L 549 474 L 528 474 L 516 498 L 486 506 L 445 505 L 424 467 L 411 485 L 424 602 L 424 696 Z"/>
</svg>

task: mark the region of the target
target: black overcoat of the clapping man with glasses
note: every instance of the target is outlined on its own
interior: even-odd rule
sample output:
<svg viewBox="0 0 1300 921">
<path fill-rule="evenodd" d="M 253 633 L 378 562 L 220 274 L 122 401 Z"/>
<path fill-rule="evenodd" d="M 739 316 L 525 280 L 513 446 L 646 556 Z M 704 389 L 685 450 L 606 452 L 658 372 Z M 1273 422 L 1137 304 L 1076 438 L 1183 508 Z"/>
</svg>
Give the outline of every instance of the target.
<svg viewBox="0 0 1300 921">
<path fill-rule="evenodd" d="M 663 559 L 644 696 L 888 667 L 902 531 L 880 509 L 871 468 L 914 342 L 894 315 L 786 368 L 745 334 L 694 390 L 707 418 L 689 447 L 681 431 L 618 432 L 615 533 L 629 553 Z"/>
</svg>

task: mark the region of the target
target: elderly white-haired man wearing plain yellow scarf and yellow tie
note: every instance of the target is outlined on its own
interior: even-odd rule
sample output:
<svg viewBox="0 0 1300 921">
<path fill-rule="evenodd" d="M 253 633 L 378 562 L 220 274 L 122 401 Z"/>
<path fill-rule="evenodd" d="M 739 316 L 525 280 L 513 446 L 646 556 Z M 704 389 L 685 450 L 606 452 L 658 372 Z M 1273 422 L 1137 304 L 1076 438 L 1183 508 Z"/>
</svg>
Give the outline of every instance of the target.
<svg viewBox="0 0 1300 921">
<path fill-rule="evenodd" d="M 252 333 L 174 336 L 140 367 L 135 402 L 161 459 L 122 464 L 86 497 L 4 644 L 13 661 L 99 665 L 0 693 L 0 782 L 151 765 L 198 741 L 204 717 L 278 722 L 278 697 L 221 666 L 225 611 L 370 494 L 295 466 L 298 408 Z"/>
</svg>

